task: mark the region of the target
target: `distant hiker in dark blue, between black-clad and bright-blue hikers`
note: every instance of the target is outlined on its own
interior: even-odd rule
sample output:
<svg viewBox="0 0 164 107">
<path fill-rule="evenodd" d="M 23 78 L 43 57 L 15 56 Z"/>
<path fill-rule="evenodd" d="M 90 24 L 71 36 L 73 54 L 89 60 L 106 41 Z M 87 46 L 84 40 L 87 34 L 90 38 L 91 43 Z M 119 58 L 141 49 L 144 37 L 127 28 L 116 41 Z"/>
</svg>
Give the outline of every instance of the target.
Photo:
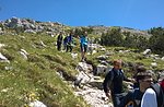
<svg viewBox="0 0 164 107">
<path fill-rule="evenodd" d="M 72 33 L 69 34 L 69 36 L 67 37 L 68 38 L 68 43 L 67 43 L 67 48 L 66 48 L 66 51 L 69 51 L 72 52 L 72 44 L 73 44 L 73 35 Z"/>
</svg>

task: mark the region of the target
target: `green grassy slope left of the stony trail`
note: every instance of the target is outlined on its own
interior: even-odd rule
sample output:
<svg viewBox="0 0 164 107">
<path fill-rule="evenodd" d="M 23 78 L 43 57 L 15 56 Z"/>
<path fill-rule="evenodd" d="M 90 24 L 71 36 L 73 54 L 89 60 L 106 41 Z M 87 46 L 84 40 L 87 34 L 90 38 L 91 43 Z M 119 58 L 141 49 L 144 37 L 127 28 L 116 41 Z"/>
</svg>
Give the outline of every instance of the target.
<svg viewBox="0 0 164 107">
<path fill-rule="evenodd" d="M 39 40 L 47 47 L 44 48 Z M 72 61 L 70 54 L 58 52 L 55 38 L 32 34 L 5 35 L 0 36 L 0 43 L 7 45 L 0 51 L 10 60 L 10 63 L 0 62 L 0 106 L 21 107 L 30 98 L 39 98 L 48 107 L 87 107 L 56 74 L 62 70 L 74 75 L 78 60 Z M 21 49 L 30 54 L 28 60 L 20 55 Z M 8 67 L 9 70 L 4 69 Z"/>
</svg>

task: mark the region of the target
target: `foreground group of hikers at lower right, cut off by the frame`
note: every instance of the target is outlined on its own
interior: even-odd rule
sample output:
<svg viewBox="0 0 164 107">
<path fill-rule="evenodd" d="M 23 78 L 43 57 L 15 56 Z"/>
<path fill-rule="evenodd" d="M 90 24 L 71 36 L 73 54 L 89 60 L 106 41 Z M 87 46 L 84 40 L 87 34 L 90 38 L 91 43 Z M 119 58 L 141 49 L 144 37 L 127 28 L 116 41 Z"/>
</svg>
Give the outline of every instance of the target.
<svg viewBox="0 0 164 107">
<path fill-rule="evenodd" d="M 164 107 L 164 72 L 160 74 L 159 82 L 154 83 L 152 72 L 144 66 L 138 66 L 134 79 L 128 79 L 121 70 L 121 60 L 115 60 L 113 64 L 103 87 L 114 107 Z M 124 91 L 124 81 L 134 84 L 128 93 Z"/>
</svg>

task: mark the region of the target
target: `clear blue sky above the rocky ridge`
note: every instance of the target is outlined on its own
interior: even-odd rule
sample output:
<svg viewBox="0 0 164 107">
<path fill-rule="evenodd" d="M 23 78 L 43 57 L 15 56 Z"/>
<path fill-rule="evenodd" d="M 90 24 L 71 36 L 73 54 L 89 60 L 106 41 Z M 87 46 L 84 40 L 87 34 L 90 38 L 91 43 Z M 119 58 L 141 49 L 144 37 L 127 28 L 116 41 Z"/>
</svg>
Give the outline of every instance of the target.
<svg viewBox="0 0 164 107">
<path fill-rule="evenodd" d="M 149 29 L 164 27 L 164 0 L 0 0 L 0 21 L 12 16 Z"/>
</svg>

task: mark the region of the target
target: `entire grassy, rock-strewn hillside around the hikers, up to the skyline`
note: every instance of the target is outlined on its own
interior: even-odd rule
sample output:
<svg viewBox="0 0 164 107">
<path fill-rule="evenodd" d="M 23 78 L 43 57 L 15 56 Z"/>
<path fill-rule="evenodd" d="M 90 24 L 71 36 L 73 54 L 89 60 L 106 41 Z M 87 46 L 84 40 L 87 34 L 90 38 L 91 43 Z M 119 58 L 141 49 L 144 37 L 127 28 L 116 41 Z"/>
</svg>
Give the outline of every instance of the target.
<svg viewBox="0 0 164 107">
<path fill-rule="evenodd" d="M 87 27 L 93 28 L 92 35 L 108 29 L 105 26 Z M 127 76 L 132 76 L 137 64 L 144 64 L 156 74 L 164 70 L 164 57 L 150 49 L 140 52 L 98 44 L 90 45 L 92 50 L 87 52 L 86 62 L 80 62 L 78 38 L 74 38 L 77 45 L 71 54 L 56 48 L 56 34 L 71 28 L 74 27 L 30 19 L 12 17 L 1 22 L 1 107 L 110 107 L 102 82 L 114 59 L 122 59 Z"/>
</svg>

